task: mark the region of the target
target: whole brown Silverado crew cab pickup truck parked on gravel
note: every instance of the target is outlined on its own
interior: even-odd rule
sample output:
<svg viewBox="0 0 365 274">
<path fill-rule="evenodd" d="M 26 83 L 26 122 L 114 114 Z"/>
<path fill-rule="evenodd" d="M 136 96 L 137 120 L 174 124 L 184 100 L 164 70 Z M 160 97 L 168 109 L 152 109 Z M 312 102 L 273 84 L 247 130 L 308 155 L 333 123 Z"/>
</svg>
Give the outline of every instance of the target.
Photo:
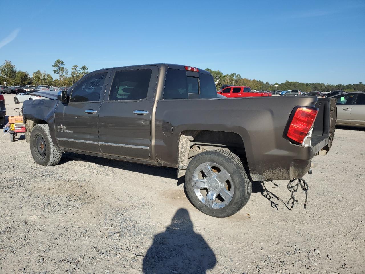
<svg viewBox="0 0 365 274">
<path fill-rule="evenodd" d="M 62 152 L 177 168 L 193 205 L 238 212 L 252 182 L 301 178 L 334 137 L 335 100 L 312 96 L 217 98 L 211 74 L 151 64 L 101 69 L 53 100 L 24 102 L 34 161 Z"/>
</svg>

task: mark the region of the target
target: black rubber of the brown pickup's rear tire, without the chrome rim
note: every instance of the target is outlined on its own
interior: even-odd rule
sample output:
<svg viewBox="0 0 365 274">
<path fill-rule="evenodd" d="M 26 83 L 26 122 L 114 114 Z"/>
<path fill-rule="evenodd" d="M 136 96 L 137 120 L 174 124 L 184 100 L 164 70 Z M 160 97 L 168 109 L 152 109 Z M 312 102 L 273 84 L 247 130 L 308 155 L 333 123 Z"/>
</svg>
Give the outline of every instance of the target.
<svg viewBox="0 0 365 274">
<path fill-rule="evenodd" d="M 193 174 L 199 165 L 212 162 L 223 167 L 231 176 L 234 186 L 231 201 L 223 208 L 211 208 L 200 201 L 193 188 Z M 192 204 L 201 212 L 224 218 L 237 213 L 250 199 L 252 182 L 237 155 L 223 149 L 214 149 L 196 155 L 189 163 L 185 173 L 185 189 Z"/>
</svg>

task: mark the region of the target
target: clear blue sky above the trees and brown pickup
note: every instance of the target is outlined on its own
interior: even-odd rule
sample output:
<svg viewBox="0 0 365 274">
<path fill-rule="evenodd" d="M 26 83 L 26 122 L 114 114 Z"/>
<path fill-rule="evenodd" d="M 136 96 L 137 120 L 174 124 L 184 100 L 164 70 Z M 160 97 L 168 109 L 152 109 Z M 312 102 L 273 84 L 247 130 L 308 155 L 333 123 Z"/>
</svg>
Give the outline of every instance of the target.
<svg viewBox="0 0 365 274">
<path fill-rule="evenodd" d="M 365 1 L 31 2 L 0 4 L 0 63 L 30 74 L 53 75 L 61 59 L 69 70 L 167 62 L 270 83 L 365 82 Z"/>
</svg>

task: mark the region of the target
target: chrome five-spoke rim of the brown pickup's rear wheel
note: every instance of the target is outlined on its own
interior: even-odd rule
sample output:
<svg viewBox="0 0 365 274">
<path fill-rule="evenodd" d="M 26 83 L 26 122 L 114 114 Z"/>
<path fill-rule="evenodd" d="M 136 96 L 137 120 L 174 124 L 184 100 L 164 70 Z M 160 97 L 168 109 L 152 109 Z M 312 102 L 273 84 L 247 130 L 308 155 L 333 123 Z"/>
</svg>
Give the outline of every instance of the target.
<svg viewBox="0 0 365 274">
<path fill-rule="evenodd" d="M 219 164 L 207 162 L 199 165 L 193 173 L 192 183 L 198 199 L 210 208 L 224 208 L 232 200 L 232 178 Z"/>
</svg>

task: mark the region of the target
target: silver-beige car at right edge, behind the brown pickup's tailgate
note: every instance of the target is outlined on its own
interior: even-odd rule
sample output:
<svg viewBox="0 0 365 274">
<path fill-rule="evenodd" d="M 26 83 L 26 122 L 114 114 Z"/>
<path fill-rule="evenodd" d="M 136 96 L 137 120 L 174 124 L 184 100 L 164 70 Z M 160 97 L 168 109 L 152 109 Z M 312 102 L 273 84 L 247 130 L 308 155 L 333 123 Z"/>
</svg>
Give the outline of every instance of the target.
<svg viewBox="0 0 365 274">
<path fill-rule="evenodd" d="M 337 125 L 365 127 L 365 92 L 343 92 L 337 99 Z"/>
</svg>

